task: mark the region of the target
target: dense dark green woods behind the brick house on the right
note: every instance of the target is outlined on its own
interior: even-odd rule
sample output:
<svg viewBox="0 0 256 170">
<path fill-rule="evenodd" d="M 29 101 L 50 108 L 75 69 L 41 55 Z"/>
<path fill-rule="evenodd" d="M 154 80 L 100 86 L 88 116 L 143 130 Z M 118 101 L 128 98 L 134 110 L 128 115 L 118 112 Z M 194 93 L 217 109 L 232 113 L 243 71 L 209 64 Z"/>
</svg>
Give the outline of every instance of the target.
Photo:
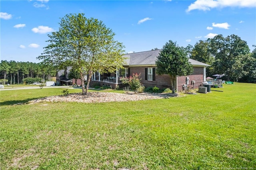
<svg viewBox="0 0 256 170">
<path fill-rule="evenodd" d="M 191 59 L 211 65 L 206 68 L 207 76 L 225 74 L 222 79 L 227 81 L 256 83 L 256 45 L 253 47 L 250 52 L 247 42 L 239 36 L 220 34 L 185 49 Z"/>
</svg>

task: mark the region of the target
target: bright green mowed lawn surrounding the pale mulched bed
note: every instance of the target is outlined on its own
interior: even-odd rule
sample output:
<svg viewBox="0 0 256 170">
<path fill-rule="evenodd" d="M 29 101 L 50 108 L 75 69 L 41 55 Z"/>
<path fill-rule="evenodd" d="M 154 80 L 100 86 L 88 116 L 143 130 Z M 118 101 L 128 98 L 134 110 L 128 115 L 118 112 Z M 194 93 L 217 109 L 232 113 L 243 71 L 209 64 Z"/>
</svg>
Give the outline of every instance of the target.
<svg viewBox="0 0 256 170">
<path fill-rule="evenodd" d="M 13 105 L 62 90 L 0 92 L 0 169 L 256 168 L 255 84 L 170 99 Z"/>
</svg>

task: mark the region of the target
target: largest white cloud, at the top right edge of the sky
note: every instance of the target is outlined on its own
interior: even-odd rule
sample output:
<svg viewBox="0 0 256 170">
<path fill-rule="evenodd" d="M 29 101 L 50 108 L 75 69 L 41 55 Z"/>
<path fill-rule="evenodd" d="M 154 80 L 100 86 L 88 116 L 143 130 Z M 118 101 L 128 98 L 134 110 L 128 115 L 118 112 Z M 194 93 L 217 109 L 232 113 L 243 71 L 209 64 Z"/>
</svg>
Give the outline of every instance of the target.
<svg viewBox="0 0 256 170">
<path fill-rule="evenodd" d="M 253 8 L 256 7 L 255 0 L 196 0 L 190 4 L 186 12 L 192 10 L 211 10 L 212 8 L 239 7 Z"/>
</svg>

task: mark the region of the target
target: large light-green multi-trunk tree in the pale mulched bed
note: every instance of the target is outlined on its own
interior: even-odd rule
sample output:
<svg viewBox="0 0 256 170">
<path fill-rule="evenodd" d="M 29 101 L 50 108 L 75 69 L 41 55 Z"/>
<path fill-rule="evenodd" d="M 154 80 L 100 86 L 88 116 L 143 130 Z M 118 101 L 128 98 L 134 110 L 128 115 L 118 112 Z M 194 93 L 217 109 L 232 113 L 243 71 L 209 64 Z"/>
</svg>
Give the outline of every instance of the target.
<svg viewBox="0 0 256 170">
<path fill-rule="evenodd" d="M 62 67 L 67 64 L 80 73 L 82 94 L 87 94 L 90 79 L 96 71 L 114 72 L 124 63 L 124 46 L 114 40 L 115 34 L 110 28 L 94 18 L 84 14 L 67 14 L 60 21 L 59 30 L 48 35 L 48 46 L 38 57 L 44 63 Z M 88 74 L 86 91 L 84 76 Z"/>
</svg>

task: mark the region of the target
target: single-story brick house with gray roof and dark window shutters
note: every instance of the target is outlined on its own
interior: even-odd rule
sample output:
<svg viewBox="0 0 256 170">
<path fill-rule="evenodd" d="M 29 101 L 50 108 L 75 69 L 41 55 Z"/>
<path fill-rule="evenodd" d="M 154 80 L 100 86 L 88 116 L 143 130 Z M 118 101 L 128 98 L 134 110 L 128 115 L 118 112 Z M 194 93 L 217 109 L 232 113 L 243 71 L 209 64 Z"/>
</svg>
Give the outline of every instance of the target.
<svg viewBox="0 0 256 170">
<path fill-rule="evenodd" d="M 115 88 L 117 85 L 122 86 L 120 77 L 129 77 L 132 73 L 140 73 L 141 82 L 145 87 L 170 88 L 170 76 L 156 74 L 156 59 L 159 53 L 160 49 L 126 54 L 124 57 L 127 59 L 123 69 L 117 69 L 116 73 L 100 74 L 96 72 L 92 76 L 92 83 L 111 85 L 112 88 Z M 202 81 L 206 80 L 206 67 L 210 65 L 193 59 L 189 59 L 189 62 L 193 65 L 194 71 L 191 75 L 177 77 L 176 89 L 178 91 L 181 91 L 186 83 L 188 87 L 198 88 Z M 186 81 L 186 77 L 189 77 L 189 81 Z"/>
</svg>

